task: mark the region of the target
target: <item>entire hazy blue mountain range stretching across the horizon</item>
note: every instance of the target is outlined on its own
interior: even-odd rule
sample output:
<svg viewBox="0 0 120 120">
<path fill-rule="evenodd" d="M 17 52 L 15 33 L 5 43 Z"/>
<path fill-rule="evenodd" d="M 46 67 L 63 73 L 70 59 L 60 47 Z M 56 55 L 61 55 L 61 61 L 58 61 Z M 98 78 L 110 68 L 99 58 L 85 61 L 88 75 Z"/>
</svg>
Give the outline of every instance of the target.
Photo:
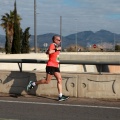
<svg viewBox="0 0 120 120">
<path fill-rule="evenodd" d="M 47 33 L 37 36 L 37 46 L 44 47 L 44 43 L 50 44 L 52 42 L 52 36 L 55 33 Z M 77 37 L 77 38 L 76 38 Z M 120 34 L 112 33 L 106 30 L 100 30 L 97 32 L 82 31 L 68 36 L 62 36 L 62 46 L 65 48 L 69 45 L 79 44 L 80 46 L 87 46 L 88 44 L 101 44 L 101 43 L 120 43 Z M 5 36 L 0 35 L 0 46 L 4 46 Z M 31 35 L 30 46 L 34 46 L 34 35 Z"/>
</svg>

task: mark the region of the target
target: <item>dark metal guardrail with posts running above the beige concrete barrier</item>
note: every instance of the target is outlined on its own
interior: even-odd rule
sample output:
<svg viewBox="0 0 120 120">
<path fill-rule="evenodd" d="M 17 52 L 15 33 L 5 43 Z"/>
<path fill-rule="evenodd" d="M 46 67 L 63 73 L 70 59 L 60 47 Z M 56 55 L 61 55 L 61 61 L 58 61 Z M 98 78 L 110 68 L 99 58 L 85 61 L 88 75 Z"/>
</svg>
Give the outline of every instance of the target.
<svg viewBox="0 0 120 120">
<path fill-rule="evenodd" d="M 23 63 L 40 63 L 45 64 L 47 60 L 40 60 L 40 59 L 0 59 L 0 63 L 18 63 L 20 72 L 22 72 L 22 65 Z M 82 64 L 84 65 L 98 65 L 99 66 L 99 74 L 101 74 L 102 66 L 103 65 L 120 65 L 120 61 L 94 61 L 94 60 L 61 60 L 60 64 Z"/>
</svg>

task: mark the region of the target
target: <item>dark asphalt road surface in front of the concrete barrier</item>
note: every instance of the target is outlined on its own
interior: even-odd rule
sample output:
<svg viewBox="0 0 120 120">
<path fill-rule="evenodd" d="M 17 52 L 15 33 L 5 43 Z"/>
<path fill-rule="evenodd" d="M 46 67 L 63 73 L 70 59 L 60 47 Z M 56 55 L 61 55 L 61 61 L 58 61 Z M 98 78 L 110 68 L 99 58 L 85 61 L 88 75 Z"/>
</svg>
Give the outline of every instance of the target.
<svg viewBox="0 0 120 120">
<path fill-rule="evenodd" d="M 0 120 L 120 120 L 120 100 L 0 96 Z"/>
</svg>

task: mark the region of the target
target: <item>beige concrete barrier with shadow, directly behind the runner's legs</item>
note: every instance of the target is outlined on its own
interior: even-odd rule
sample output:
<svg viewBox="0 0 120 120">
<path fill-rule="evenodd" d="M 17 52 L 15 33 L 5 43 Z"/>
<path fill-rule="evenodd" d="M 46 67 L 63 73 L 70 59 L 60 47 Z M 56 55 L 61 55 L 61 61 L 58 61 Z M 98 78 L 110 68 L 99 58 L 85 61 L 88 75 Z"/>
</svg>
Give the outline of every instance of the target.
<svg viewBox="0 0 120 120">
<path fill-rule="evenodd" d="M 53 77 L 50 84 L 39 85 L 29 93 L 26 86 L 30 80 L 45 77 L 40 72 L 0 71 L 0 93 L 33 94 L 37 96 L 57 96 L 57 82 Z M 71 97 L 120 99 L 120 75 L 63 73 L 63 93 Z"/>
</svg>

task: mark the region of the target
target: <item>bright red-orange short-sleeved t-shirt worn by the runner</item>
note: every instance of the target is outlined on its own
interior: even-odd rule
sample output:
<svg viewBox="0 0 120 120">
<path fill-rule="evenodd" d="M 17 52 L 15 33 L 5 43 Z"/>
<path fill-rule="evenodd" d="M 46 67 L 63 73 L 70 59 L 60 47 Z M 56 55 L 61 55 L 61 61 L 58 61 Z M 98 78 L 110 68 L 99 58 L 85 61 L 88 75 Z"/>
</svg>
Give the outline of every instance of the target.
<svg viewBox="0 0 120 120">
<path fill-rule="evenodd" d="M 54 49 L 55 49 L 55 43 L 50 44 L 48 50 L 54 50 Z M 47 66 L 58 67 L 60 62 L 59 54 L 60 51 L 56 51 L 52 54 L 49 54 L 49 60 L 47 62 Z"/>
</svg>

